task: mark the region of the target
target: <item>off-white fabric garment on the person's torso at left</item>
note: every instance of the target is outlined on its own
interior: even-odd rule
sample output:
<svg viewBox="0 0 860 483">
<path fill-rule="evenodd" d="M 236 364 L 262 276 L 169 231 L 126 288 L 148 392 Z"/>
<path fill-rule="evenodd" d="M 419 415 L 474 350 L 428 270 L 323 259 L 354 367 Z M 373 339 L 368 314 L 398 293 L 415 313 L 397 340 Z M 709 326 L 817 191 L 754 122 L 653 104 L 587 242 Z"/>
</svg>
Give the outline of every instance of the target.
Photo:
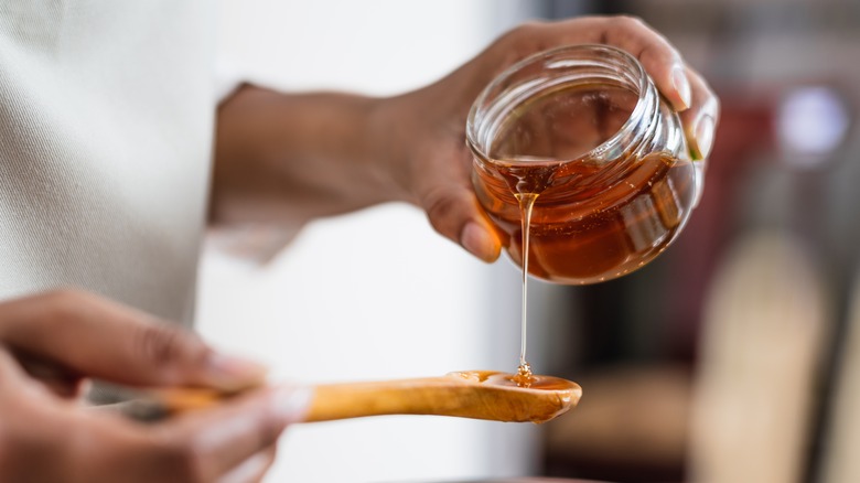
<svg viewBox="0 0 860 483">
<path fill-rule="evenodd" d="M 190 322 L 211 0 L 0 0 L 0 299 L 78 287 Z"/>
</svg>

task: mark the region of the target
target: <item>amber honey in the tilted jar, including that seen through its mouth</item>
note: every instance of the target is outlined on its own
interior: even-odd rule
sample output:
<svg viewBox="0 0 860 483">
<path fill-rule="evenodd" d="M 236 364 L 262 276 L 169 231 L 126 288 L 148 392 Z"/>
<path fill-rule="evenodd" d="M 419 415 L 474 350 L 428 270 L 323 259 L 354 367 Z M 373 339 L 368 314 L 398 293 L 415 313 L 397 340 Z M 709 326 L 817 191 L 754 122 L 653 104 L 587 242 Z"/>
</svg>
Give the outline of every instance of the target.
<svg viewBox="0 0 860 483">
<path fill-rule="evenodd" d="M 647 264 L 682 227 L 699 189 L 697 164 L 665 150 L 628 149 L 609 162 L 591 152 L 622 128 L 635 101 L 622 87 L 556 89 L 522 106 L 522 116 L 509 114 L 488 158 L 476 158 L 477 198 L 520 266 L 520 200 L 534 197 L 533 276 L 577 285 L 613 279 Z"/>
</svg>

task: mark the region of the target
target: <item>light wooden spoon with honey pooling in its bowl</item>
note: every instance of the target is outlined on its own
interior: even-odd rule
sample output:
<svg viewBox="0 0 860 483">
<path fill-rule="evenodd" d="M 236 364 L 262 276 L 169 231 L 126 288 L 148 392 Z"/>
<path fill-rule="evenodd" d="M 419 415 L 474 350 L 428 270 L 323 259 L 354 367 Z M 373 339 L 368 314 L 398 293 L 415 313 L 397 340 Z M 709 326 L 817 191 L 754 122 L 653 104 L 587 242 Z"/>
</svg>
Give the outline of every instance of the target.
<svg viewBox="0 0 860 483">
<path fill-rule="evenodd" d="M 496 421 L 548 421 L 577 405 L 582 389 L 570 380 L 533 376 L 519 386 L 514 376 L 488 371 L 451 373 L 442 377 L 318 385 L 304 422 L 381 415 L 455 416 Z M 150 407 L 138 405 L 132 416 L 153 419 L 212 406 L 228 395 L 207 389 L 170 388 L 147 391 Z M 137 415 L 135 415 L 137 412 Z M 150 412 L 150 416 L 144 416 Z"/>
</svg>

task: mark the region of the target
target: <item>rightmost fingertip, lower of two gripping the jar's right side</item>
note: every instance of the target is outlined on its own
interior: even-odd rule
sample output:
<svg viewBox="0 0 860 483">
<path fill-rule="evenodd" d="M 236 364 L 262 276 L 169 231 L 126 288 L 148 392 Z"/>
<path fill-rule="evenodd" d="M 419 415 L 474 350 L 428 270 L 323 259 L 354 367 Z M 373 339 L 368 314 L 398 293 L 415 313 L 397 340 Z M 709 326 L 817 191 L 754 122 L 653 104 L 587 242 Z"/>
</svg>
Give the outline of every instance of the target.
<svg viewBox="0 0 860 483">
<path fill-rule="evenodd" d="M 681 122 L 696 160 L 707 159 L 713 146 L 717 124 L 720 120 L 720 101 L 708 83 L 695 71 L 688 68 L 687 77 L 692 87 L 690 108 L 681 112 Z"/>
</svg>

